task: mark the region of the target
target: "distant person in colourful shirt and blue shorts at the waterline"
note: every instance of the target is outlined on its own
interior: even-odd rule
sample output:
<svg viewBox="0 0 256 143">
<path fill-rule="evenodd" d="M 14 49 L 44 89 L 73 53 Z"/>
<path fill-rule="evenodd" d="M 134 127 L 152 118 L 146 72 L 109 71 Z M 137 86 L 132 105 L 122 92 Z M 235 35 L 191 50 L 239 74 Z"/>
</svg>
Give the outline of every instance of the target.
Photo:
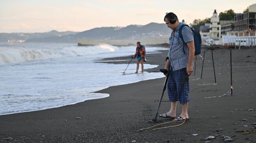
<svg viewBox="0 0 256 143">
<path fill-rule="evenodd" d="M 141 63 L 141 72 L 143 72 L 144 71 L 143 61 L 146 62 L 146 50 L 145 50 L 145 46 L 141 45 L 141 42 L 137 42 L 137 48 L 133 58 L 135 59 L 136 57 L 137 57 L 137 68 L 135 73 L 137 74 L 139 70 L 139 63 Z"/>
</svg>

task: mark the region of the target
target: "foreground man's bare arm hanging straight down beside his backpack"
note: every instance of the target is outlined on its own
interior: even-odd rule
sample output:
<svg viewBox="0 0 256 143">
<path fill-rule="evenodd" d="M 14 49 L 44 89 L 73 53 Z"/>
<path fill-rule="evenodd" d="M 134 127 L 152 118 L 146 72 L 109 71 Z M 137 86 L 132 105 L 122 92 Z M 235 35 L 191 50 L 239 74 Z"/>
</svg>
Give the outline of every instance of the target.
<svg viewBox="0 0 256 143">
<path fill-rule="evenodd" d="M 187 64 L 187 74 L 191 75 L 193 72 L 193 61 L 195 56 L 195 44 L 194 41 L 188 42 L 187 47 L 189 49 L 189 58 L 188 58 L 188 64 Z"/>
</svg>

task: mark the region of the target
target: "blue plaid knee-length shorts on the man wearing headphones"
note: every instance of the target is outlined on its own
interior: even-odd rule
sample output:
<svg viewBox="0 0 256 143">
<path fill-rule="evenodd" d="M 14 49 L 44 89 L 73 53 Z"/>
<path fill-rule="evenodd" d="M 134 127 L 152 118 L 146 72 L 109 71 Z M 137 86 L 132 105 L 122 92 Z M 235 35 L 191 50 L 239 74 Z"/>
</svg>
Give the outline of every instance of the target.
<svg viewBox="0 0 256 143">
<path fill-rule="evenodd" d="M 182 84 L 182 79 L 187 75 L 187 69 L 179 69 L 171 73 L 167 81 L 167 93 L 171 102 L 180 101 L 185 104 L 189 101 L 189 81 Z"/>
</svg>

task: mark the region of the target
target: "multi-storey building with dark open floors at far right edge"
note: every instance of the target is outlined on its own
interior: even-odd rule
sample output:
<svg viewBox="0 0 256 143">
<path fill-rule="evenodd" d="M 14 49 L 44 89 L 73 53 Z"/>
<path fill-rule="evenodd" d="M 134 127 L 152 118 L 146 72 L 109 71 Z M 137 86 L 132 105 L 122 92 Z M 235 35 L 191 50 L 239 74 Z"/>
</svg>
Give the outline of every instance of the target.
<svg viewBox="0 0 256 143">
<path fill-rule="evenodd" d="M 249 6 L 249 12 L 235 16 L 234 31 L 256 29 L 256 4 Z"/>
</svg>

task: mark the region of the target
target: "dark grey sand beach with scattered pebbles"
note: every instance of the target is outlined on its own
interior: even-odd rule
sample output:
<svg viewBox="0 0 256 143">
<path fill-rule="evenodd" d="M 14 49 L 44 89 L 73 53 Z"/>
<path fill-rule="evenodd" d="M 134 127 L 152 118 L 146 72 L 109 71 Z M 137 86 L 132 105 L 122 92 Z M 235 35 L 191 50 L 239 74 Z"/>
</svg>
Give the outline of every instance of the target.
<svg viewBox="0 0 256 143">
<path fill-rule="evenodd" d="M 147 63 L 160 66 L 146 71 L 158 72 L 164 67 L 168 51 L 161 52 L 161 54 L 147 55 Z M 200 56 L 197 56 L 195 75 L 189 77 L 190 120 L 181 126 L 138 132 L 139 129 L 155 125 L 145 121 L 155 116 L 165 80 L 160 78 L 98 91 L 110 94 L 108 98 L 88 100 L 54 109 L 2 115 L 0 141 L 1 143 L 131 143 L 132 141 L 223 143 L 222 136 L 229 136 L 234 143 L 256 143 L 256 133 L 253 132 L 256 126 L 256 48 L 232 49 L 233 96 L 206 98 L 221 96 L 230 89 L 230 50 L 215 49 L 213 55 L 217 85 L 198 85 L 214 83 L 211 51 L 208 50 L 205 54 L 202 79 L 193 80 L 200 78 L 202 68 Z M 98 62 L 120 59 L 127 59 L 125 63 L 130 61 L 129 57 L 119 57 Z M 121 72 L 122 70 L 120 69 Z M 160 114 L 169 109 L 170 103 L 165 92 Z M 249 109 L 252 110 L 248 111 Z M 181 110 L 181 105 L 178 103 L 177 116 Z M 76 119 L 77 117 L 81 119 Z M 179 124 L 167 123 L 159 127 Z M 243 130 L 249 132 L 237 132 Z M 203 140 L 208 136 L 215 138 Z M 13 140 L 7 141 L 6 138 L 9 137 Z"/>
</svg>

